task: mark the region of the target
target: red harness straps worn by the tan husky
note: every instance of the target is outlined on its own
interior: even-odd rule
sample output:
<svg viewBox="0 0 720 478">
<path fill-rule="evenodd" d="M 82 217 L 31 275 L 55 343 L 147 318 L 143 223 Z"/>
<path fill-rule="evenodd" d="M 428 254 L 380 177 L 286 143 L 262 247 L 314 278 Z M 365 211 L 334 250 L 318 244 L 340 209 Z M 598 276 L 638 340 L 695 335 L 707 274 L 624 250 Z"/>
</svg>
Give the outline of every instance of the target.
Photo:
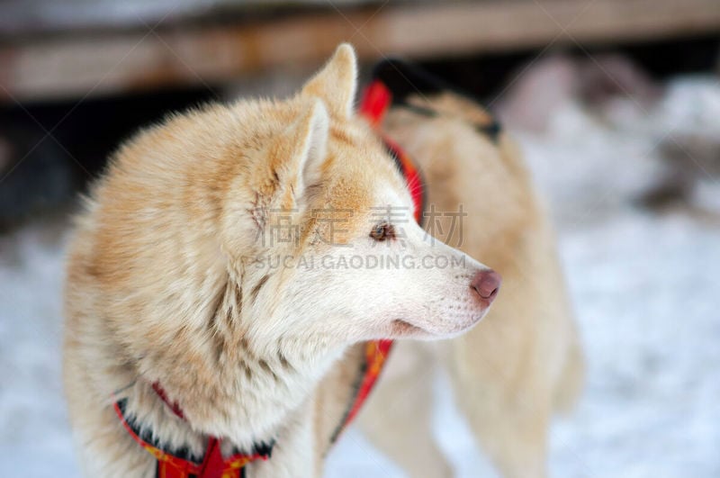
<svg viewBox="0 0 720 478">
<path fill-rule="evenodd" d="M 360 105 L 360 114 L 364 116 L 375 129 L 378 129 L 383 122 L 384 114 L 391 104 L 392 94 L 390 90 L 378 79 L 371 83 L 365 90 L 365 95 Z M 400 169 L 402 175 L 405 176 L 405 181 L 415 206 L 415 220 L 420 222 L 423 210 L 424 190 L 419 171 L 397 144 L 387 138 L 384 140 L 397 167 Z M 347 429 L 353 419 L 356 418 L 357 412 L 360 411 L 363 403 L 365 403 L 365 400 L 373 390 L 374 384 L 377 382 L 383 370 L 385 359 L 390 354 L 391 347 L 392 340 L 373 340 L 367 342 L 365 346 L 365 362 L 358 373 L 355 395 L 352 401 L 350 401 L 345 416 L 333 433 L 330 440 L 331 443 L 335 443 L 342 432 Z M 183 410 L 180 409 L 176 402 L 171 402 L 167 399 L 166 393 L 162 387 L 160 387 L 159 383 L 153 383 L 152 387 L 160 399 L 173 410 L 175 415 L 180 419 L 184 419 Z M 115 402 L 115 412 L 120 418 L 122 426 L 130 434 L 130 437 L 157 460 L 157 478 L 243 478 L 248 463 L 258 459 L 267 460 L 273 449 L 273 443 L 269 445 L 259 444 L 254 446 L 251 453 L 235 453 L 225 458 L 220 452 L 222 439 L 219 437 L 208 437 L 208 445 L 205 448 L 205 454 L 202 458 L 191 456 L 187 450 L 170 453 L 162 449 L 161 444 L 153 439 L 151 433 L 143 433 L 142 428 L 139 428 L 131 419 L 126 417 L 126 405 L 127 399 Z"/>
</svg>

